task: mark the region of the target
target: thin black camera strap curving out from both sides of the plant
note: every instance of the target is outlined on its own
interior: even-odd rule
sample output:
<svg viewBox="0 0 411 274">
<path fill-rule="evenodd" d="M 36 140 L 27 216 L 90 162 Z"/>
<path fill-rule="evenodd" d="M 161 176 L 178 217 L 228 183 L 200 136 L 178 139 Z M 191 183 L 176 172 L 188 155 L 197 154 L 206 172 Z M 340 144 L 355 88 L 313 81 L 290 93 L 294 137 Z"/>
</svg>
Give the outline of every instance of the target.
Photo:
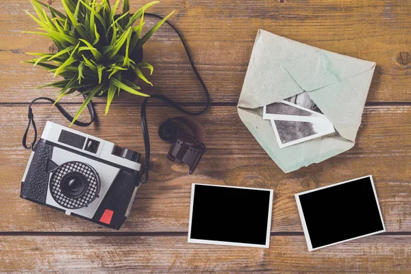
<svg viewBox="0 0 411 274">
<path fill-rule="evenodd" d="M 162 16 L 158 15 L 158 14 L 152 14 L 152 13 L 145 13 L 145 15 L 147 16 L 153 16 L 155 18 L 159 18 L 159 19 L 164 19 Z M 182 42 L 182 45 L 184 47 L 184 50 L 186 51 L 187 54 L 187 58 L 188 61 L 190 62 L 190 65 L 192 67 L 192 71 L 194 71 L 197 79 L 199 80 L 199 83 L 201 84 L 201 87 L 204 90 L 204 94 L 206 95 L 206 103 L 203 107 L 202 110 L 198 111 L 198 112 L 191 112 L 188 110 L 185 110 L 184 108 L 182 108 L 182 105 L 180 105 L 179 103 L 176 103 L 175 101 L 169 99 L 169 97 L 166 97 L 164 95 L 158 95 L 158 94 L 153 94 L 150 95 L 150 97 L 146 97 L 145 100 L 142 102 L 141 105 L 141 112 L 140 112 L 140 117 L 141 117 L 141 127 L 142 127 L 142 136 L 144 138 L 144 145 L 145 145 L 145 164 L 142 168 L 142 172 L 140 173 L 140 184 L 145 184 L 148 182 L 149 180 L 149 164 L 150 164 L 150 139 L 149 139 L 149 128 L 147 126 L 147 115 L 146 115 L 146 108 L 147 108 L 147 102 L 149 101 L 150 98 L 155 98 L 155 99 L 159 99 L 161 101 L 163 101 L 164 103 L 170 105 L 171 107 L 175 108 L 176 110 L 179 110 L 180 112 L 184 113 L 184 114 L 188 114 L 188 115 L 200 115 L 203 114 L 204 112 L 206 112 L 206 110 L 208 110 L 208 107 L 210 105 L 210 95 L 208 93 L 208 89 L 206 87 L 206 84 L 204 84 L 203 79 L 201 78 L 201 76 L 199 75 L 199 72 L 197 71 L 194 62 L 192 61 L 191 55 L 190 55 L 190 51 L 188 51 L 188 47 L 186 45 L 186 42 L 184 42 L 184 39 L 182 37 L 182 35 L 179 33 L 179 31 L 174 27 L 173 24 L 171 24 L 169 21 L 165 21 L 165 23 L 167 23 L 173 30 L 174 32 L 177 34 L 177 36 L 179 37 L 180 41 Z M 86 95 L 83 95 L 84 99 L 86 99 Z M 32 111 L 32 104 L 37 101 L 37 100 L 47 100 L 51 103 L 55 103 L 55 100 L 47 98 L 47 97 L 38 97 L 36 99 L 34 99 L 30 104 L 29 104 L 29 112 L 28 112 L 28 118 L 29 118 L 29 123 L 27 125 L 27 129 L 25 130 L 25 133 L 23 135 L 23 147 L 25 147 L 25 149 L 34 149 L 34 146 L 36 145 L 36 140 L 37 140 L 37 128 L 36 128 L 36 123 L 34 123 L 34 115 L 33 115 L 33 111 Z M 73 121 L 73 116 L 71 116 L 69 114 L 69 112 L 67 112 L 62 105 L 60 105 L 60 103 L 55 103 L 55 107 L 63 114 L 63 116 L 69 120 L 69 121 Z M 92 101 L 90 101 L 90 103 L 88 103 L 87 105 L 88 108 L 88 112 L 90 113 L 90 122 L 88 123 L 84 123 L 81 121 L 75 121 L 74 125 L 78 125 L 80 127 L 87 127 L 88 125 L 91 125 L 92 122 L 95 120 L 95 110 L 92 106 Z M 29 146 L 27 146 L 27 134 L 29 132 L 29 128 L 30 126 L 33 125 L 33 129 L 34 129 L 34 138 L 33 138 L 33 142 L 30 143 Z M 144 175 L 144 179 L 142 179 Z"/>
</svg>

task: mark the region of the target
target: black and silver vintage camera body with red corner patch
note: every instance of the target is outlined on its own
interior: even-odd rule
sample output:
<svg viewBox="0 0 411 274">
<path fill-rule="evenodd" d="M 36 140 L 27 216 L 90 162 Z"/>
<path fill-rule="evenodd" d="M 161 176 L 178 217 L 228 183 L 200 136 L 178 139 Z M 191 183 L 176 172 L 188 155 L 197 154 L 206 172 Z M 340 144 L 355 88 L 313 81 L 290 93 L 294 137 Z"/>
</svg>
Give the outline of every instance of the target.
<svg viewBox="0 0 411 274">
<path fill-rule="evenodd" d="M 136 197 L 139 161 L 140 153 L 48 121 L 20 197 L 120 229 Z"/>
</svg>

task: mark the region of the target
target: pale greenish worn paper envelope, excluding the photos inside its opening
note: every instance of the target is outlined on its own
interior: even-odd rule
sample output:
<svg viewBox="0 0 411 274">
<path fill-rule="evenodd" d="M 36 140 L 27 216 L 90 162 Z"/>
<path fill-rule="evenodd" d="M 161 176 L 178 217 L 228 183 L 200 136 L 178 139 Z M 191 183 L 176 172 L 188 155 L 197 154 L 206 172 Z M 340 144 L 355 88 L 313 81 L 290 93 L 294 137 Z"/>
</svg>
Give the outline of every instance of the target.
<svg viewBox="0 0 411 274">
<path fill-rule="evenodd" d="M 285 173 L 353 147 L 375 63 L 258 31 L 238 101 L 238 115 Z M 279 148 L 263 106 L 307 91 L 332 122 L 331 135 Z"/>
</svg>

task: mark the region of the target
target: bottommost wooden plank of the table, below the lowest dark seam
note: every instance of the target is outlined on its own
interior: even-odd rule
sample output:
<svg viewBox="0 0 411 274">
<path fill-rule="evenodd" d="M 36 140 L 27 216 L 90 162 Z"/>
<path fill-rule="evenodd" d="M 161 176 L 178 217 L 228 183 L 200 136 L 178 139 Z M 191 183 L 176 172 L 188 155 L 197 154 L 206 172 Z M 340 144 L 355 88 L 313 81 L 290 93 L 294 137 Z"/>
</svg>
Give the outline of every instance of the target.
<svg viewBox="0 0 411 274">
<path fill-rule="evenodd" d="M 411 236 L 370 236 L 308 252 L 303 236 L 269 249 L 187 243 L 186 236 L 1 236 L 0 271 L 40 273 L 409 273 Z"/>
</svg>

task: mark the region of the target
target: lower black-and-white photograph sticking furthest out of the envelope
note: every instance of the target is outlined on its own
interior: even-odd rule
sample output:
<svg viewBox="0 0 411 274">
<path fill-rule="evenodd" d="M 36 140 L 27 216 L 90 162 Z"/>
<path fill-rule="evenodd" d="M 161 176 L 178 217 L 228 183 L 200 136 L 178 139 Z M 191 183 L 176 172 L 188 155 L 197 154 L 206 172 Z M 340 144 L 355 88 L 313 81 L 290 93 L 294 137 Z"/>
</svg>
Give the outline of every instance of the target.
<svg viewBox="0 0 411 274">
<path fill-rule="evenodd" d="M 271 120 L 275 138 L 280 148 L 306 142 L 335 132 L 331 122 L 320 121 L 279 121 Z"/>
</svg>

